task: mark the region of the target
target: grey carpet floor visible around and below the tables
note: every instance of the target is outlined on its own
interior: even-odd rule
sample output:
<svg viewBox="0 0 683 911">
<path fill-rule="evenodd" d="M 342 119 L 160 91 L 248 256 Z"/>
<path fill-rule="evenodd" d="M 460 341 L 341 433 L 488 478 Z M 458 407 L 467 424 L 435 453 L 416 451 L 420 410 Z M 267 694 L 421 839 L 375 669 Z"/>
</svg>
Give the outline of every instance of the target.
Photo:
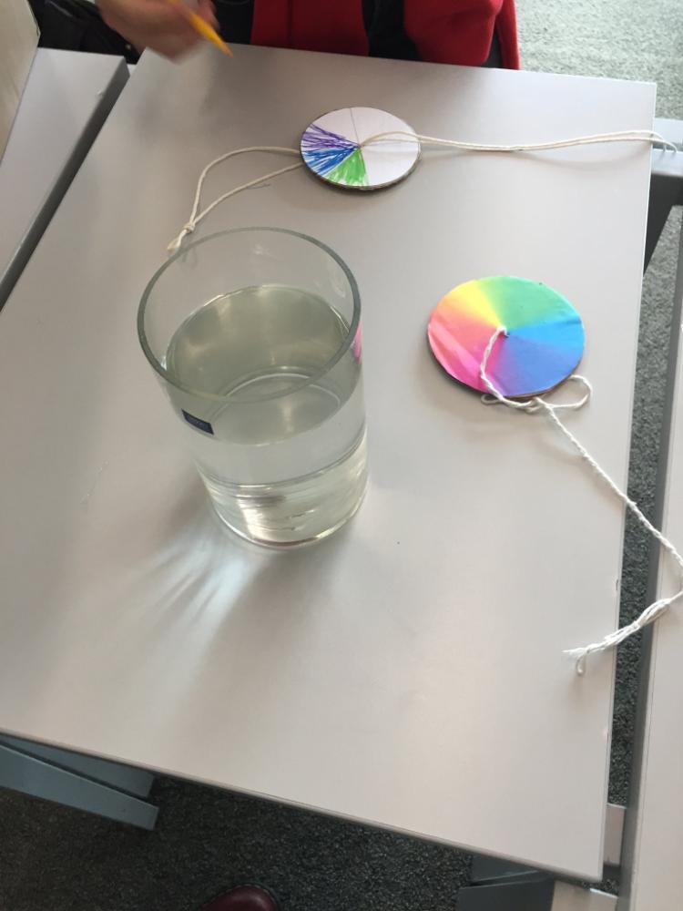
<svg viewBox="0 0 683 911">
<path fill-rule="evenodd" d="M 658 83 L 658 115 L 683 118 L 679 0 L 517 0 L 526 69 Z M 663 404 L 679 219 L 643 292 L 630 491 L 646 511 Z M 617 310 L 618 302 L 614 302 Z M 642 608 L 647 540 L 627 529 L 622 616 Z M 617 665 L 610 797 L 627 800 L 637 642 Z M 286 911 L 453 911 L 469 858 L 360 825 L 158 779 L 144 833 L 0 791 L 0 911 L 193 911 L 222 888 L 267 882 Z M 610 884 L 613 885 L 613 884 Z"/>
</svg>

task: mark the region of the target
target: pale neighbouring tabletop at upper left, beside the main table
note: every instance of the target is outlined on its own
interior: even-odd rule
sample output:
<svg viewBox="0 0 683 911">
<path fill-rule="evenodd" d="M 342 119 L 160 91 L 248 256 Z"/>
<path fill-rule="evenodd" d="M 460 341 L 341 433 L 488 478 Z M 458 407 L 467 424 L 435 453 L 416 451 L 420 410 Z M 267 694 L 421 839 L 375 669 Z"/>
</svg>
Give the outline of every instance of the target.
<svg viewBox="0 0 683 911">
<path fill-rule="evenodd" d="M 0 163 L 0 307 L 126 80 L 122 57 L 36 52 Z"/>
</svg>

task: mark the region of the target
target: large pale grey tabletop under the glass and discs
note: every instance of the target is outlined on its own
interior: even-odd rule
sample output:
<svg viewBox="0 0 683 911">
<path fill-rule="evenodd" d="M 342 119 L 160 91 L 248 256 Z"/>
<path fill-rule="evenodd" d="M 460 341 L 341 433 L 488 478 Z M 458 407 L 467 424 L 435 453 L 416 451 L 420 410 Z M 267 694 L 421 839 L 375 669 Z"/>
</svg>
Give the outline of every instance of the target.
<svg viewBox="0 0 683 911">
<path fill-rule="evenodd" d="M 571 426 L 626 483 L 650 151 L 425 151 L 371 194 L 303 170 L 201 233 L 270 224 L 339 251 L 363 300 L 372 486 L 317 548 L 212 521 L 138 351 L 138 300 L 221 152 L 388 109 L 488 142 L 651 126 L 654 87 L 237 48 L 145 56 L 0 317 L 0 728 L 565 870 L 600 875 L 623 515 L 540 415 L 433 363 L 455 284 L 548 282 L 586 322 Z M 222 166 L 207 199 L 287 164 Z"/>
</svg>

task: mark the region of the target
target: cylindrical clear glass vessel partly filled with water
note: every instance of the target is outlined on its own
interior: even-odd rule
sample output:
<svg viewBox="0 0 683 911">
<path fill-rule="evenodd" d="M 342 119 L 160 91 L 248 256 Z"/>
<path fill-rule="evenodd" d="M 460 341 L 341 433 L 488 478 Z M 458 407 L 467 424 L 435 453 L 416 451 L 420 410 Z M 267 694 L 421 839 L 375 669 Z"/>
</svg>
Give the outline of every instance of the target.
<svg viewBox="0 0 683 911">
<path fill-rule="evenodd" d="M 360 315 L 336 253 L 277 228 L 212 234 L 149 282 L 140 343 L 216 512 L 241 537 L 304 544 L 360 506 Z"/>
</svg>

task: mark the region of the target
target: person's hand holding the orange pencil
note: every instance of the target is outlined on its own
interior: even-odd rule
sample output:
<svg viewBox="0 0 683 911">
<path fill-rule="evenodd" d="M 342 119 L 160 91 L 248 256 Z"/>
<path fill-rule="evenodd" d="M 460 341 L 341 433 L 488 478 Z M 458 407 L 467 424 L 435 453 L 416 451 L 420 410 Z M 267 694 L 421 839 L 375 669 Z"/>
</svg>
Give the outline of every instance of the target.
<svg viewBox="0 0 683 911">
<path fill-rule="evenodd" d="M 138 50 L 151 47 L 164 56 L 177 57 L 201 40 L 182 10 L 168 0 L 98 0 L 97 5 L 107 26 Z M 218 27 L 212 0 L 199 0 L 195 11 Z"/>
</svg>

